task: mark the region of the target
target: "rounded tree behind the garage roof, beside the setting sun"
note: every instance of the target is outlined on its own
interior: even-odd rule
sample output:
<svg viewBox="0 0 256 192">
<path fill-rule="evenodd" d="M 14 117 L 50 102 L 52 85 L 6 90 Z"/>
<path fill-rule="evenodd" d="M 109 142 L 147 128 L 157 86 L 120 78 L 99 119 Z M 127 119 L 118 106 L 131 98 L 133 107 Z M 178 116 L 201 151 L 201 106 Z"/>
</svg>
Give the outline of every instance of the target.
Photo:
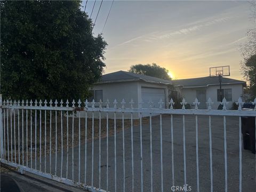
<svg viewBox="0 0 256 192">
<path fill-rule="evenodd" d="M 132 65 L 129 69 L 130 72 L 142 75 L 148 75 L 151 77 L 157 77 L 162 79 L 171 80 L 171 77 L 168 75 L 168 70 L 164 67 L 156 65 L 156 63 L 147 64 L 147 65 Z"/>
</svg>

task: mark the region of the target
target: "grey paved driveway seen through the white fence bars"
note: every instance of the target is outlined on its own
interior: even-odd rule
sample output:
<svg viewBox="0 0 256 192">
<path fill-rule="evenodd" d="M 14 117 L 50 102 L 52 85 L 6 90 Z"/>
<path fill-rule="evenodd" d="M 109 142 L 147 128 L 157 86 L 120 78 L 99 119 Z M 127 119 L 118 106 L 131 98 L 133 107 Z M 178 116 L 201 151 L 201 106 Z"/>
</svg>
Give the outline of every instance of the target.
<svg viewBox="0 0 256 192">
<path fill-rule="evenodd" d="M 175 186 L 184 185 L 183 170 L 183 132 L 182 116 L 173 116 L 174 121 L 174 176 Z M 196 186 L 196 137 L 195 116 L 186 117 L 186 162 L 187 184 L 192 191 Z M 172 161 L 171 161 L 171 116 L 163 115 L 163 176 L 164 191 L 171 191 Z M 160 129 L 159 116 L 152 119 L 153 127 L 153 188 L 161 190 L 161 161 L 160 161 Z M 150 134 L 149 123 L 142 126 L 143 142 L 143 189 L 150 190 Z M 227 158 L 228 158 L 228 191 L 239 191 L 239 127 L 238 117 L 227 117 Z M 82 135 L 81 137 L 84 137 Z M 122 132 L 117 133 L 117 191 L 123 190 L 123 150 Z M 209 117 L 198 116 L 199 142 L 199 186 L 201 191 L 210 191 L 210 155 L 209 155 Z M 223 117 L 212 116 L 212 156 L 213 156 L 213 191 L 225 191 Z M 133 130 L 134 145 L 134 191 L 140 191 L 140 129 Z M 81 145 L 81 182 L 84 181 L 84 144 Z M 86 183 L 91 185 L 92 143 L 87 143 L 87 174 Z M 52 155 L 52 170 L 54 159 Z M 57 175 L 60 175 L 60 159 L 58 154 Z M 49 160 L 49 159 L 48 159 Z M 78 181 L 78 147 L 74 148 L 74 180 Z M 125 181 L 126 191 L 132 191 L 131 169 L 131 130 L 125 130 Z M 48 162 L 47 162 L 48 164 Z M 69 150 L 68 178 L 71 179 L 71 149 Z M 106 189 L 106 138 L 101 139 L 101 164 L 99 165 L 99 139 L 94 140 L 94 177 L 93 186 L 99 187 L 99 166 L 101 166 L 101 188 Z M 255 155 L 243 150 L 243 191 L 254 191 L 255 184 Z M 49 166 L 47 166 L 49 168 Z M 109 137 L 109 190 L 114 189 L 114 137 Z M 48 170 L 49 171 L 49 170 Z M 63 175 L 66 177 L 66 153 L 63 155 Z"/>
</svg>

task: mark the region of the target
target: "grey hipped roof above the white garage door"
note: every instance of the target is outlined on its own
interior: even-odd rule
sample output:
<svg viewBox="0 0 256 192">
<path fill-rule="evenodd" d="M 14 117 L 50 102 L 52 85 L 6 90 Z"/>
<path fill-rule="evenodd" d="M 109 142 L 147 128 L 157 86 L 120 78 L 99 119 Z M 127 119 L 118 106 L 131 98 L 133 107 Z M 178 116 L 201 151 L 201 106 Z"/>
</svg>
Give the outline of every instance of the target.
<svg viewBox="0 0 256 192">
<path fill-rule="evenodd" d="M 172 84 L 172 82 L 169 80 L 151 77 L 147 75 L 134 74 L 134 73 L 122 71 L 122 70 L 116 71 L 114 73 L 102 75 L 101 80 L 97 84 L 127 82 L 127 81 L 145 81 L 145 82 L 157 83 L 157 84 Z"/>
</svg>

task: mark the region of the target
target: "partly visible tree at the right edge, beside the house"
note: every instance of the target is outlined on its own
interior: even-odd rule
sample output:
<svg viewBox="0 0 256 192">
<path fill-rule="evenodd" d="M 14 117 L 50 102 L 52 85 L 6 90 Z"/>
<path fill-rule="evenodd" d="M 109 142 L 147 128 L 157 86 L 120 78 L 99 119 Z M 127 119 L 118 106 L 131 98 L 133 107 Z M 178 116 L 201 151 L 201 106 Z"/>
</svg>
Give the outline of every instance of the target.
<svg viewBox="0 0 256 192">
<path fill-rule="evenodd" d="M 249 82 L 248 88 L 254 99 L 256 97 L 256 54 L 252 55 L 249 59 L 245 59 L 242 65 L 242 73 L 246 80 Z"/>
</svg>

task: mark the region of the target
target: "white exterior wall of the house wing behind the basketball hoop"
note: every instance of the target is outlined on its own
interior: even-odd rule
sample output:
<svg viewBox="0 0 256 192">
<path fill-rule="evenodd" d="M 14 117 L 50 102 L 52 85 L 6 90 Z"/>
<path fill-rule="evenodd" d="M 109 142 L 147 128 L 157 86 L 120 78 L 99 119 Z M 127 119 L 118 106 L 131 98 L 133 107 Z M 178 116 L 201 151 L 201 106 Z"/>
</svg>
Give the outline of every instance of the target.
<svg viewBox="0 0 256 192">
<path fill-rule="evenodd" d="M 233 85 L 222 85 L 222 89 L 231 89 L 232 90 L 232 101 L 226 105 L 227 109 L 231 109 L 233 102 L 236 102 L 239 97 L 243 97 L 243 85 L 242 84 L 233 84 Z M 181 90 L 181 97 L 185 97 L 186 101 L 190 104 L 191 108 L 194 108 L 193 102 L 196 98 L 196 90 L 202 88 L 183 88 Z M 218 109 L 220 102 L 217 100 L 217 90 L 220 89 L 219 85 L 212 85 L 205 87 L 206 89 L 206 101 L 209 97 L 212 99 L 213 105 L 212 109 Z M 200 101 L 199 101 L 200 102 Z"/>
</svg>

